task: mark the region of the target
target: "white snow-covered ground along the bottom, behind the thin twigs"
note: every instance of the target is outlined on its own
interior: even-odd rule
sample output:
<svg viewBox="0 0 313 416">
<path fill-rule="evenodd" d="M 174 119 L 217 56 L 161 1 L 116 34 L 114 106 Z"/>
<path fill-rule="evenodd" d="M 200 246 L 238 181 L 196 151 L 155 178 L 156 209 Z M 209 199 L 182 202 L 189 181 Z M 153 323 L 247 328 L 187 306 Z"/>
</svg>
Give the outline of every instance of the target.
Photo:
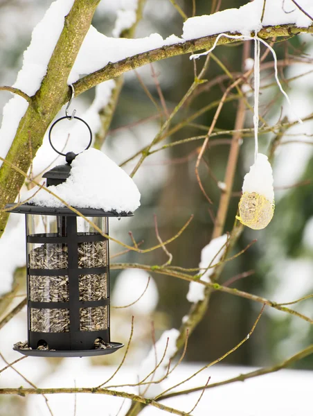
<svg viewBox="0 0 313 416">
<path fill-rule="evenodd" d="M 17 368 L 19 368 L 19 365 L 17 364 Z M 200 367 L 199 364 L 180 365 L 164 382 L 164 388 L 168 388 L 194 374 Z M 111 376 L 115 368 L 109 365 L 91 367 L 82 358 L 66 358 L 55 374 L 46 377 L 39 385 L 40 387 L 74 387 L 74 385 L 77 387 L 93 387 Z M 211 376 L 210 383 L 215 383 L 252 370 L 254 369 L 249 367 L 216 365 L 186 383 L 186 388 L 204 385 L 208 376 Z M 312 380 L 313 372 L 281 370 L 277 373 L 249 379 L 244 383 L 231 383 L 213 388 L 204 392 L 202 400 L 192 414 L 194 416 L 211 414 L 215 416 L 309 416 L 312 409 Z M 136 383 L 136 369 L 134 367 L 123 367 L 110 384 L 125 383 L 126 381 Z M 138 393 L 138 388 L 127 388 L 127 391 Z M 161 403 L 188 411 L 195 406 L 200 394 L 201 392 L 195 392 L 184 397 L 174 397 Z M 74 395 L 51 395 L 48 399 L 54 416 L 73 414 Z M 99 409 L 105 409 L 106 416 L 114 416 L 123 404 L 123 399 L 105 395 L 77 395 L 76 399 L 76 416 L 96 414 Z M 121 416 L 125 415 L 128 406 L 129 401 L 126 400 L 120 411 Z M 142 416 L 166 414 L 152 406 L 145 408 L 141 413 Z M 42 397 L 28 397 L 26 416 L 48 415 Z"/>
</svg>

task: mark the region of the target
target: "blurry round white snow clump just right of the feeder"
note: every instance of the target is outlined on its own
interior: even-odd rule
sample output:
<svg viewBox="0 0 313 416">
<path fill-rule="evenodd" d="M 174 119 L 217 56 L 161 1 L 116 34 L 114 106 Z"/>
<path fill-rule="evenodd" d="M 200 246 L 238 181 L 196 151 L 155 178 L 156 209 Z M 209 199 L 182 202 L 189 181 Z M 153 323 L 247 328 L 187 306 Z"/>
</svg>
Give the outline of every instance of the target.
<svg viewBox="0 0 313 416">
<path fill-rule="evenodd" d="M 152 277 L 150 277 L 149 286 L 147 286 L 148 279 L 149 274 L 145 270 L 127 269 L 120 272 L 114 284 L 111 304 L 113 306 L 131 304 L 143 294 L 147 287 L 143 297 L 125 310 L 129 314 L 148 315 L 152 313 L 159 301 L 159 293 Z"/>
</svg>

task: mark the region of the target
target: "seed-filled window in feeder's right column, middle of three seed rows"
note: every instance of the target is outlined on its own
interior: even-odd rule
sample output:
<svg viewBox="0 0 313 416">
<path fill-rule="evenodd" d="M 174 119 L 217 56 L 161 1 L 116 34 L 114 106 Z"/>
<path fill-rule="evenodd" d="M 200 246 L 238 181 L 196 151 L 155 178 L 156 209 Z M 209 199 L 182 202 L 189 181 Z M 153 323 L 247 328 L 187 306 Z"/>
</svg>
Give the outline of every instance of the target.
<svg viewBox="0 0 313 416">
<path fill-rule="evenodd" d="M 107 273 L 80 275 L 80 300 L 102 300 L 107 297 Z"/>
</svg>

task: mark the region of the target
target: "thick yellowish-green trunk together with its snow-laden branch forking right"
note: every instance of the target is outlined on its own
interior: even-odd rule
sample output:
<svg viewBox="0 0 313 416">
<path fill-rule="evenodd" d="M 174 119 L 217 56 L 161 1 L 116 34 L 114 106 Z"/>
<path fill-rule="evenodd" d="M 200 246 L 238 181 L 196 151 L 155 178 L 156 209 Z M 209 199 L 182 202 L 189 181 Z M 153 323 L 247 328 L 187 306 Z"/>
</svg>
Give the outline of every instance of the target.
<svg viewBox="0 0 313 416">
<path fill-rule="evenodd" d="M 31 97 L 26 114 L 19 123 L 17 134 L 8 152 L 6 159 L 27 172 L 30 162 L 35 157 L 38 148 L 42 145 L 42 139 L 48 125 L 60 110 L 62 105 L 69 100 L 69 88 L 67 79 L 78 54 L 82 41 L 89 30 L 93 13 L 100 0 L 75 0 L 69 15 L 65 18 L 65 24 L 60 38 L 55 46 L 53 55 L 48 64 L 48 69 L 42 85 Z M 262 39 L 271 37 L 290 37 L 298 33 L 313 33 L 313 26 L 297 28 L 293 24 L 280 26 L 267 26 L 258 33 Z M 218 34 L 217 34 L 218 35 Z M 123 73 L 141 67 L 147 63 L 182 55 L 201 49 L 208 49 L 213 45 L 217 35 L 201 37 L 184 43 L 163 46 L 159 49 L 139 53 L 119 62 L 109 63 L 105 68 L 84 76 L 74 84 L 75 95 L 82 94 L 105 80 L 116 78 Z M 235 40 L 222 37 L 220 44 L 229 44 Z M 31 132 L 31 144 L 29 136 Z M 31 148 L 30 148 L 31 147 Z M 30 151 L 31 150 L 31 151 Z M 0 168 L 0 207 L 15 200 L 24 177 L 14 172 L 12 168 L 4 164 Z M 6 227 L 8 214 L 0 214 L 0 236 Z"/>
</svg>

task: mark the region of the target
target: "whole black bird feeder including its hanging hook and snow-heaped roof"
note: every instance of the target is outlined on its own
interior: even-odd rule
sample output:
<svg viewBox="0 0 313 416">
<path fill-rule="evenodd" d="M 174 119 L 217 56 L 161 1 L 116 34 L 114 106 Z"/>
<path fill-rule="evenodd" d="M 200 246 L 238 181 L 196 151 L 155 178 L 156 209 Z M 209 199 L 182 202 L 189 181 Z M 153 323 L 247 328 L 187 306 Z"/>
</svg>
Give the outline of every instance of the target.
<svg viewBox="0 0 313 416">
<path fill-rule="evenodd" d="M 68 107 L 51 126 L 51 146 L 64 155 L 51 131 L 59 121 L 78 119 L 89 129 L 87 149 L 66 153 L 66 164 L 44 174 L 48 189 L 6 205 L 26 214 L 28 340 L 14 349 L 30 356 L 98 356 L 123 347 L 110 338 L 108 217 L 131 216 L 140 193 L 121 168 L 89 149 L 91 129 L 75 113 L 69 116 Z"/>
</svg>

